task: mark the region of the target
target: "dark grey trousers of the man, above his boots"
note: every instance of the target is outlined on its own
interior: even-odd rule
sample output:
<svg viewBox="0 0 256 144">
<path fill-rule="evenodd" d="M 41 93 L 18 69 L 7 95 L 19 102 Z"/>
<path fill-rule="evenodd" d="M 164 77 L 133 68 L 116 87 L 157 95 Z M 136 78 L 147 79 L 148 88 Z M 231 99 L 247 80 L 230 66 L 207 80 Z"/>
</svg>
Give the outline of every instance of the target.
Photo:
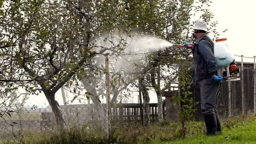
<svg viewBox="0 0 256 144">
<path fill-rule="evenodd" d="M 202 114 L 214 114 L 217 111 L 220 83 L 209 78 L 199 81 L 198 84 L 200 85 Z"/>
</svg>

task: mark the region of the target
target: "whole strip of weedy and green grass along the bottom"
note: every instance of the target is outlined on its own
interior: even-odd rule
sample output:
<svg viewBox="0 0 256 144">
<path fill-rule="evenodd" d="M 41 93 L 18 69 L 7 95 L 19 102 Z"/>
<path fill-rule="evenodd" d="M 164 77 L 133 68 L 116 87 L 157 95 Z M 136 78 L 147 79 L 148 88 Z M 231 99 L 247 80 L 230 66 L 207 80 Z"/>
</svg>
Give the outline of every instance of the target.
<svg viewBox="0 0 256 144">
<path fill-rule="evenodd" d="M 204 123 L 190 122 L 186 139 L 181 139 L 179 123 L 155 123 L 144 128 L 140 123 L 113 125 L 112 144 L 256 144 L 256 120 L 236 117 L 226 120 L 223 133 L 214 137 L 204 136 Z M 1 143 L 2 142 L 2 143 Z M 15 141 L 0 144 L 108 144 L 102 130 L 72 127 L 65 131 L 28 133 Z"/>
</svg>

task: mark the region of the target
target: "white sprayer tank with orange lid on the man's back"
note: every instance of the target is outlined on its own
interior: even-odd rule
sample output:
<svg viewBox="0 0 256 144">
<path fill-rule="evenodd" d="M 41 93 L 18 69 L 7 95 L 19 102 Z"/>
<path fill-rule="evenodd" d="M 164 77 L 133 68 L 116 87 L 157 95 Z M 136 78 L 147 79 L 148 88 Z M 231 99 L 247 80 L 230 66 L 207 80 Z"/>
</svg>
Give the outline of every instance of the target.
<svg viewBox="0 0 256 144">
<path fill-rule="evenodd" d="M 235 60 L 235 56 L 230 53 L 227 45 L 227 39 L 216 39 L 214 44 L 214 57 L 217 67 L 229 67 L 229 64 Z"/>
</svg>

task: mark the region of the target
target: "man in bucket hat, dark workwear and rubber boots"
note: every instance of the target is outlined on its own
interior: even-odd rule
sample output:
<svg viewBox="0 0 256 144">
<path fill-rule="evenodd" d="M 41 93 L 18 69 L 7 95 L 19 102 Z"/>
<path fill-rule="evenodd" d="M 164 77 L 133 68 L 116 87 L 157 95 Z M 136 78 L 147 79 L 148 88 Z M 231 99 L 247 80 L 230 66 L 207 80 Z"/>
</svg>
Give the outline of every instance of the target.
<svg viewBox="0 0 256 144">
<path fill-rule="evenodd" d="M 220 82 L 222 76 L 217 76 L 216 61 L 213 55 L 213 41 L 206 35 L 207 27 L 204 21 L 196 21 L 193 27 L 193 37 L 196 39 L 192 49 L 195 61 L 195 82 L 200 86 L 201 109 L 205 119 L 207 135 L 216 135 L 221 131 L 217 107 Z M 191 45 L 190 43 L 184 44 Z"/>
</svg>

